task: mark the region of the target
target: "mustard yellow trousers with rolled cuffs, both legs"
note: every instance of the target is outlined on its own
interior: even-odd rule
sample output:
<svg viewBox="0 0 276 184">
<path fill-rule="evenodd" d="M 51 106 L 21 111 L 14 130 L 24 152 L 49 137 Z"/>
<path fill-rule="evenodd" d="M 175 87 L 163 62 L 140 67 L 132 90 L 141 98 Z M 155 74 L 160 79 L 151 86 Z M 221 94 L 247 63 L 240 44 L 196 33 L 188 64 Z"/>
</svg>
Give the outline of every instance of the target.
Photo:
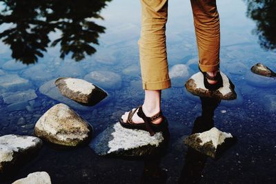
<svg viewBox="0 0 276 184">
<path fill-rule="evenodd" d="M 141 36 L 138 41 L 144 90 L 170 88 L 166 52 L 168 0 L 141 1 Z M 199 52 L 199 68 L 219 69 L 219 13 L 215 0 L 190 0 Z"/>
</svg>

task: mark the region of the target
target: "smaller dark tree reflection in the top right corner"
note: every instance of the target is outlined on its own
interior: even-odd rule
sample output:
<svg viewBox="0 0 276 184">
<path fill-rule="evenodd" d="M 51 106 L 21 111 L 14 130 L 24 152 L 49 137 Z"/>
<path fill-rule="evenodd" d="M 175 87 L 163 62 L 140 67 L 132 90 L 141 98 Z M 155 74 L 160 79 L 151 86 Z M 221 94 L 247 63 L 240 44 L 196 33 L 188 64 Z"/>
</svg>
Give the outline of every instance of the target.
<svg viewBox="0 0 276 184">
<path fill-rule="evenodd" d="M 276 1 L 245 0 L 247 16 L 257 23 L 254 32 L 259 36 L 261 46 L 267 50 L 276 49 Z"/>
</svg>

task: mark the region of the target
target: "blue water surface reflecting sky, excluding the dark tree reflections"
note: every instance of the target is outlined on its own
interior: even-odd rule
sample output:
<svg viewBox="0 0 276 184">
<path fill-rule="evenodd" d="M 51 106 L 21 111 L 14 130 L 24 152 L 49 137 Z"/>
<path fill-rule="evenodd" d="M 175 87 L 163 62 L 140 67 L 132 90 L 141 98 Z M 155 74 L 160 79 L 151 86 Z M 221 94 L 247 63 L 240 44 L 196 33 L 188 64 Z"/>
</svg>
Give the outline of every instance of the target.
<svg viewBox="0 0 276 184">
<path fill-rule="evenodd" d="M 87 6 L 90 7 L 89 4 Z M 177 183 L 189 177 L 187 168 L 198 168 L 199 172 L 192 177 L 202 183 L 275 183 L 276 82 L 250 72 L 250 67 L 258 62 L 276 70 L 276 54 L 273 52 L 275 36 L 264 42 L 264 38 L 270 38 L 272 34 L 262 26 L 258 14 L 257 17 L 250 15 L 252 9 L 249 10 L 248 17 L 255 17 L 257 24 L 246 17 L 248 7 L 245 1 L 218 1 L 217 6 L 221 20 L 221 70 L 235 83 L 238 94 L 237 100 L 221 101 L 215 110 L 215 126 L 224 132 L 230 132 L 238 139 L 237 144 L 219 160 L 213 161 L 200 156 L 195 156 L 196 160 L 188 159 L 188 155 L 193 153 L 190 154 L 183 143 L 183 139 L 192 133 L 196 125 L 194 122 L 198 122 L 197 117 L 201 115 L 201 101 L 188 94 L 183 87 L 188 76 L 197 72 L 198 59 L 190 3 L 177 0 L 169 3 L 166 32 L 168 61 L 170 69 L 174 65 L 186 65 L 188 74 L 179 76 L 172 74 L 170 70 L 172 76 L 179 77 L 172 78 L 172 88 L 163 92 L 163 110 L 170 124 L 170 145 L 166 156 L 144 163 L 101 159 L 89 147 L 69 152 L 44 147 L 41 150 L 43 155 L 23 167 L 10 181 L 25 177 L 29 172 L 46 170 L 52 181 L 57 183 L 138 183 L 148 181 L 153 176 L 154 173 L 147 172 L 147 168 L 151 168 L 158 170 L 157 175 L 161 177 L 161 181 Z M 101 12 L 104 20 L 93 20 L 97 25 L 105 27 L 106 33 L 100 34 L 99 45 L 92 45 L 97 52 L 84 58 L 81 55 L 77 57 L 82 59 L 81 62 L 75 62 L 76 58 L 70 59 L 72 54 L 66 55 L 64 60 L 60 59 L 59 56 L 66 53 L 66 49 L 63 50 L 57 44 L 54 48 L 48 48 L 47 52 L 38 49 L 43 57 L 38 58 L 36 64 L 26 66 L 12 59 L 10 45 L 0 43 L 0 80 L 20 78 L 28 82 L 17 85 L 17 88 L 4 88 L 0 84 L 0 135 L 32 134 L 34 123 L 41 114 L 59 103 L 44 94 L 55 96 L 75 109 L 95 127 L 95 135 L 110 123 L 115 123 L 122 113 L 141 104 L 144 94 L 141 90 L 137 45 L 140 30 L 139 8 L 139 1 L 121 0 L 108 3 Z M 271 22 L 269 25 L 275 25 Z M 261 26 L 256 27 L 259 24 Z M 4 24 L 0 26 L 0 30 L 3 32 L 9 27 L 10 25 Z M 253 30 L 257 30 L 257 35 L 252 34 Z M 273 27 L 269 27 L 269 30 L 273 30 Z M 50 41 L 55 41 L 60 36 L 61 32 L 50 32 L 48 35 Z M 270 51 L 264 50 L 259 43 Z M 41 47 L 46 48 L 46 45 Z M 34 55 L 24 63 L 33 61 L 36 61 Z M 105 74 L 110 83 L 93 79 L 91 72 Z M 104 86 L 109 96 L 95 107 L 83 108 L 77 103 L 61 99 L 50 83 L 45 85 L 59 76 L 79 77 L 99 87 Z M 20 90 L 33 90 L 37 98 L 27 102 L 5 103 L 3 94 L 18 94 Z M 24 119 L 23 123 L 21 117 Z"/>
</svg>

